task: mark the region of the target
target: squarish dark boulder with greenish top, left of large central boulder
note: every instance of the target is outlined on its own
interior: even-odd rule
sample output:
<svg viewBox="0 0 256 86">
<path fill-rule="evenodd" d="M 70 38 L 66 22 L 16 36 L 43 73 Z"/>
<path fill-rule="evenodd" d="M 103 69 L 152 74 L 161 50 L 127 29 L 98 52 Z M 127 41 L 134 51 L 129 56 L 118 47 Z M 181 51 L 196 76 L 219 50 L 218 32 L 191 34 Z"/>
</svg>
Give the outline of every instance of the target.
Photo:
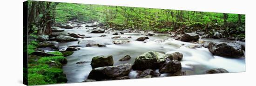
<svg viewBox="0 0 256 86">
<path fill-rule="evenodd" d="M 111 56 L 96 56 L 93 57 L 91 66 L 92 68 L 102 67 L 102 66 L 113 66 L 114 60 Z"/>
</svg>

